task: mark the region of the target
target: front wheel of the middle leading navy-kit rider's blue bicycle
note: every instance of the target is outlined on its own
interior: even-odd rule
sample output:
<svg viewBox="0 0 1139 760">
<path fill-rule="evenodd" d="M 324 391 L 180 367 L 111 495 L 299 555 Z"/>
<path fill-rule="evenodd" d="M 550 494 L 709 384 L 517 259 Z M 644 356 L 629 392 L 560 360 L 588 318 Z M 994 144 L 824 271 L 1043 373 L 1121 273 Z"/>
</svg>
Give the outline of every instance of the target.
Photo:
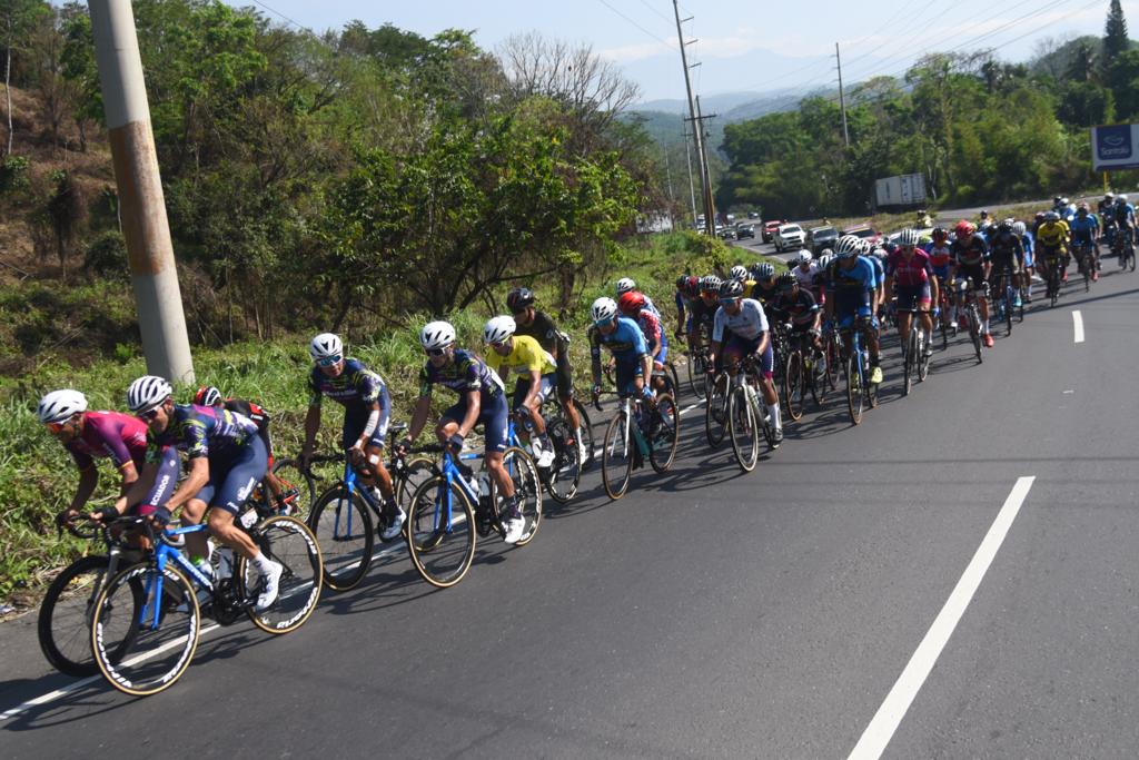
<svg viewBox="0 0 1139 760">
<path fill-rule="evenodd" d="M 371 515 L 359 491 L 349 497 L 347 487 L 337 483 L 312 505 L 309 530 L 317 537 L 325 563 L 325 586 L 346 591 L 361 580 L 371 565 L 376 541 Z"/>
</svg>

